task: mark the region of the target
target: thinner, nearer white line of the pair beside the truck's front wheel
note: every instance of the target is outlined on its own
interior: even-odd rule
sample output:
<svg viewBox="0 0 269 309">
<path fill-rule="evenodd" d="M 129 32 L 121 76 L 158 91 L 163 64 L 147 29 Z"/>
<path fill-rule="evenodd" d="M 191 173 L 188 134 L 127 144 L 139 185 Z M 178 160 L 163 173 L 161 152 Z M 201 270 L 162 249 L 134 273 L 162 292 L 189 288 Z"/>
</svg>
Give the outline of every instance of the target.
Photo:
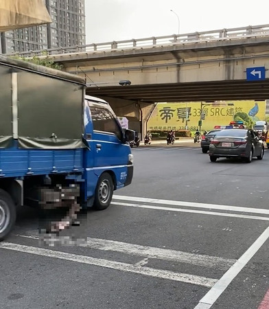
<svg viewBox="0 0 269 309">
<path fill-rule="evenodd" d="M 191 214 L 206 214 L 206 215 L 210 215 L 210 216 L 222 216 L 222 217 L 233 217 L 233 218 L 243 218 L 243 219 L 269 221 L 268 217 L 248 216 L 248 215 L 240 215 L 240 214 L 227 214 L 227 213 L 224 213 L 224 212 L 202 211 L 202 210 L 194 210 L 194 209 L 161 207 L 161 206 L 154 206 L 154 205 L 142 205 L 142 204 L 121 203 L 121 202 L 111 202 L 111 204 L 119 205 L 119 206 L 137 207 L 137 208 L 187 212 L 187 213 L 191 213 Z"/>
</svg>

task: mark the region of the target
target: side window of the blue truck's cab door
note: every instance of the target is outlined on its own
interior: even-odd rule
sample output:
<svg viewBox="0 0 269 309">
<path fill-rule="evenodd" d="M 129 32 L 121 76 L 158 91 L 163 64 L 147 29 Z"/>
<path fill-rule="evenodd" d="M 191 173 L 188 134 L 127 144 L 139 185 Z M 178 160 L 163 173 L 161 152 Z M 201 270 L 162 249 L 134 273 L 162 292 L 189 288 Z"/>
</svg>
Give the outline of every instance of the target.
<svg viewBox="0 0 269 309">
<path fill-rule="evenodd" d="M 93 130 L 114 133 L 118 139 L 122 139 L 122 132 L 113 113 L 102 106 L 91 106 L 91 118 Z"/>
</svg>

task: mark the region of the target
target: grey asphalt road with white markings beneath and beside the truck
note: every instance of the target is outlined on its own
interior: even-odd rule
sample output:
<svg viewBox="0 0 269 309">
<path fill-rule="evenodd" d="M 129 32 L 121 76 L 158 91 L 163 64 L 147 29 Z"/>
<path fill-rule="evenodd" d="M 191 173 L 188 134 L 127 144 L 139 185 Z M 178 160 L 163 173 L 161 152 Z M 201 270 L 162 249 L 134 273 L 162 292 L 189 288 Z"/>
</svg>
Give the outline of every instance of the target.
<svg viewBox="0 0 269 309">
<path fill-rule="evenodd" d="M 55 242 L 21 209 L 0 308 L 269 308 L 269 152 L 209 161 L 191 140 L 133 148 L 132 184 Z"/>
</svg>

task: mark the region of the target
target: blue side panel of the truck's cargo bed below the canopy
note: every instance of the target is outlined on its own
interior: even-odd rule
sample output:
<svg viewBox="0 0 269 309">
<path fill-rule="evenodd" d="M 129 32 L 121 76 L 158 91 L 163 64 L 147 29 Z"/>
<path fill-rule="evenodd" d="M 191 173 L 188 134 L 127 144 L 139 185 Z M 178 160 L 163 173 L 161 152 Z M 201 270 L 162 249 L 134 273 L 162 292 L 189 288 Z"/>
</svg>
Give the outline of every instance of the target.
<svg viewBox="0 0 269 309">
<path fill-rule="evenodd" d="M 0 178 L 82 172 L 82 148 L 68 150 L 0 149 Z"/>
</svg>

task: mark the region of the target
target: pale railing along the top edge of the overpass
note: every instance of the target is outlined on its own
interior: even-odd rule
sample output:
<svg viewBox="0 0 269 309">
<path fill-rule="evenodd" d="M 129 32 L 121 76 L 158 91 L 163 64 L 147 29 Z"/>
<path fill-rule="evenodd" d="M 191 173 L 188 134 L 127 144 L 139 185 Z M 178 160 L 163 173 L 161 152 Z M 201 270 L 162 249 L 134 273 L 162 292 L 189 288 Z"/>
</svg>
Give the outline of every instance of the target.
<svg viewBox="0 0 269 309">
<path fill-rule="evenodd" d="M 60 54 L 79 54 L 112 52 L 126 49 L 144 49 L 169 45 L 187 45 L 213 41 L 231 41 L 240 38 L 253 38 L 269 36 L 269 24 L 238 27 L 231 29 L 211 30 L 207 32 L 193 32 L 187 34 L 173 34 L 171 36 L 156 36 L 150 38 L 136 38 L 126 41 L 113 41 L 105 43 L 92 43 L 71 47 L 58 47 L 53 49 L 34 50 L 29 52 L 14 52 L 21 56 L 56 56 Z"/>
</svg>

